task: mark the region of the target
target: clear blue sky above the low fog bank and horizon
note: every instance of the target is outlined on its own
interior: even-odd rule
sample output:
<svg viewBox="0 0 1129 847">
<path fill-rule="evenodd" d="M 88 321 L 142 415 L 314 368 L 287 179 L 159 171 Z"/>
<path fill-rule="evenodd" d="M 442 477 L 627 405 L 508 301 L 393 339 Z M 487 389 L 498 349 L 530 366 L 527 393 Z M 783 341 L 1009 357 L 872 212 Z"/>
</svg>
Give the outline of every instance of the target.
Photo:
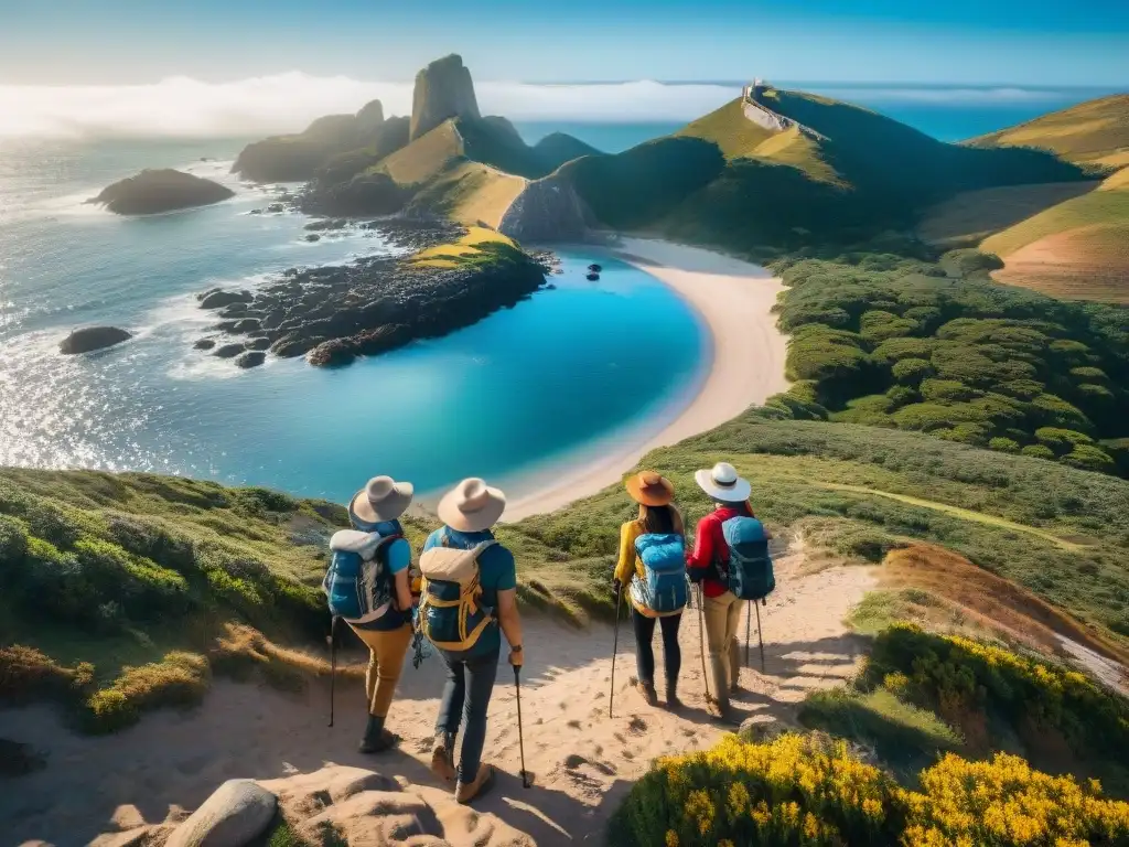
<svg viewBox="0 0 1129 847">
<path fill-rule="evenodd" d="M 0 0 L 0 85 L 410 79 L 1129 88 L 1129 0 Z"/>
</svg>

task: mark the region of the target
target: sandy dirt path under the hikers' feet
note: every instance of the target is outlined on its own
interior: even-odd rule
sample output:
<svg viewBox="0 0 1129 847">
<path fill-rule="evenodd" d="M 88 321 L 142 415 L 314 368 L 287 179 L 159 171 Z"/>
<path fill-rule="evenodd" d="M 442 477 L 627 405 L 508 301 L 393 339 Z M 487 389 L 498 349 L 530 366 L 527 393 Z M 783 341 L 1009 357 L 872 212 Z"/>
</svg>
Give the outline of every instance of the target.
<svg viewBox="0 0 1129 847">
<path fill-rule="evenodd" d="M 749 693 L 735 705 L 743 716 L 787 717 L 807 691 L 850 674 L 861 653 L 842 619 L 873 585 L 870 570 L 838 567 L 798 576 L 800 564 L 802 555 L 778 561 L 779 588 L 761 610 L 767 673 L 742 671 Z M 522 715 L 526 766 L 536 785 L 525 791 L 517 776 L 517 704 L 513 675 L 500 667 L 485 749 L 502 772 L 476 807 L 539 845 L 602 844 L 609 815 L 653 758 L 709 746 L 723 732 L 703 710 L 698 612 L 686 612 L 681 631 L 685 708 L 680 713 L 650 708 L 629 688 L 634 673 L 629 626 L 621 625 L 613 718 L 607 717 L 612 629 L 578 632 L 535 619 L 526 631 Z M 751 656 L 758 669 L 755 640 L 754 631 Z M 656 654 L 662 664 L 657 644 Z M 663 678 L 662 670 L 657 675 Z M 44 707 L 3 713 L 3 734 L 45 753 L 46 767 L 0 792 L 0 847 L 29 839 L 59 847 L 87 844 L 100 832 L 191 810 L 224 779 L 270 779 L 327 762 L 436 785 L 427 763 L 440 681 L 434 661 L 405 670 L 388 719 L 404 740 L 397 751 L 380 757 L 356 752 L 365 721 L 356 683 L 339 687 L 335 728 L 326 727 L 322 686 L 285 695 L 217 681 L 200 708 L 151 714 L 105 737 L 72 735 Z"/>
</svg>

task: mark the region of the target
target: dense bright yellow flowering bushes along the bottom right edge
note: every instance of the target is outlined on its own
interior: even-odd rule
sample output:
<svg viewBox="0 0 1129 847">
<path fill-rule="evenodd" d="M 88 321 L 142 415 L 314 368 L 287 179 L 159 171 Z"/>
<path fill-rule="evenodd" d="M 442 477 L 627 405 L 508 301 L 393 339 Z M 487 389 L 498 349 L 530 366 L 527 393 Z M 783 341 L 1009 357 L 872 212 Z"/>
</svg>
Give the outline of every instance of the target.
<svg viewBox="0 0 1129 847">
<path fill-rule="evenodd" d="M 611 822 L 610 842 L 637 847 L 1129 847 L 1129 803 L 1101 786 L 1050 776 L 1015 756 L 949 753 L 900 788 L 826 736 L 659 759 Z"/>
</svg>

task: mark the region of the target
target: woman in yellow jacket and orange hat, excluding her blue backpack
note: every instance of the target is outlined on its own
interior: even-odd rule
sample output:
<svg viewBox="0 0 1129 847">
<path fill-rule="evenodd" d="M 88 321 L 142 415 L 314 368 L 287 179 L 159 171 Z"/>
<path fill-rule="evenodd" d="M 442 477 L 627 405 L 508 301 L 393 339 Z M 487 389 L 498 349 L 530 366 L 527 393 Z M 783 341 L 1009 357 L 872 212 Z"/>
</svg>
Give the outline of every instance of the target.
<svg viewBox="0 0 1129 847">
<path fill-rule="evenodd" d="M 621 591 L 628 593 L 631 603 L 631 628 L 636 637 L 636 664 L 638 679 L 636 689 L 648 705 L 658 702 L 655 691 L 655 652 L 651 641 L 655 637 L 655 622 L 658 621 L 663 631 L 663 657 L 666 665 L 666 702 L 668 708 L 681 706 L 679 700 L 679 671 L 682 665 L 682 650 L 679 647 L 679 627 L 682 623 L 682 606 L 658 611 L 653 606 L 651 597 L 648 604 L 642 591 L 630 591 L 633 579 L 640 580 L 641 587 L 647 579 L 646 568 L 639 555 L 637 542 L 642 536 L 665 539 L 672 547 L 672 555 L 682 556 L 683 524 L 682 515 L 673 505 L 674 486 L 665 477 L 653 471 L 631 477 L 625 483 L 628 494 L 639 504 L 639 517 L 628 521 L 620 527 L 620 557 L 615 566 L 613 586 L 616 595 Z M 684 584 L 684 573 L 676 576 Z M 684 588 L 683 588 L 684 591 Z M 684 603 L 684 599 L 681 601 Z"/>
</svg>

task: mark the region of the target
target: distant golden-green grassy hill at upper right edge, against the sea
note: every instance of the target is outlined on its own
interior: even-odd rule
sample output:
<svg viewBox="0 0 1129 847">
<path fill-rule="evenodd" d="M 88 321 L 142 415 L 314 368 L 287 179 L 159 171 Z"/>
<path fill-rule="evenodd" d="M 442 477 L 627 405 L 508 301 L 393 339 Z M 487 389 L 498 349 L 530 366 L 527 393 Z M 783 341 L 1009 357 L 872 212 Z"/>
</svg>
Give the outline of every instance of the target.
<svg viewBox="0 0 1129 847">
<path fill-rule="evenodd" d="M 1129 164 L 1129 94 L 1079 103 L 1016 126 L 980 136 L 973 147 L 1031 147 L 1097 167 Z"/>
</svg>

